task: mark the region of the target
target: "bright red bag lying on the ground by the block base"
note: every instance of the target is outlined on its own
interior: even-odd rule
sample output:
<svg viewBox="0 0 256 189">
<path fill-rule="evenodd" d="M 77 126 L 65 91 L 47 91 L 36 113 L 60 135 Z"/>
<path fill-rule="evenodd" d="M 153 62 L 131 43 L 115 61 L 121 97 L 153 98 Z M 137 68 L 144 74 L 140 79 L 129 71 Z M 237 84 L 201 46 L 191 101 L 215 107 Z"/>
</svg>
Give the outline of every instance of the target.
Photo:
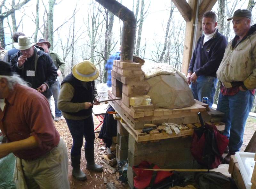
<svg viewBox="0 0 256 189">
<path fill-rule="evenodd" d="M 157 165 L 154 165 L 153 163 L 148 163 L 147 161 L 141 162 L 138 166 L 133 166 L 132 169 L 136 174 L 136 176 L 133 178 L 133 186 L 135 189 L 144 189 L 150 184 L 156 185 L 173 174 L 168 171 L 142 170 L 160 169 Z"/>
</svg>

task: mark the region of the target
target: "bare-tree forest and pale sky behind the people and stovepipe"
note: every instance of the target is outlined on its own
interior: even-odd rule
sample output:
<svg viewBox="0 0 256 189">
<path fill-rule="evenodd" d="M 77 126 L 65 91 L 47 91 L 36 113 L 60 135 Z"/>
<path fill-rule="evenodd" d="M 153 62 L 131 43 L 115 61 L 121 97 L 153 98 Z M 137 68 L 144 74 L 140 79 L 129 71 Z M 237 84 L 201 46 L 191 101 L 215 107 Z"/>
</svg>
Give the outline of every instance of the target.
<svg viewBox="0 0 256 189">
<path fill-rule="evenodd" d="M 171 0 L 118 0 L 134 12 L 137 20 L 134 54 L 147 62 L 170 64 L 181 69 L 186 22 Z M 237 9 L 252 11 L 256 23 L 255 0 L 218 0 L 213 11 L 218 29 L 228 41 L 234 37 L 232 22 Z M 19 31 L 34 42 L 46 39 L 51 49 L 65 61 L 64 76 L 73 65 L 90 60 L 100 70 L 99 83 L 105 83 L 108 57 L 122 43 L 122 21 L 95 0 L 2 0 L 0 4 L 0 42 L 11 49 L 12 34 Z M 214 103 L 218 102 L 218 85 Z M 252 107 L 256 113 L 256 100 Z"/>
</svg>

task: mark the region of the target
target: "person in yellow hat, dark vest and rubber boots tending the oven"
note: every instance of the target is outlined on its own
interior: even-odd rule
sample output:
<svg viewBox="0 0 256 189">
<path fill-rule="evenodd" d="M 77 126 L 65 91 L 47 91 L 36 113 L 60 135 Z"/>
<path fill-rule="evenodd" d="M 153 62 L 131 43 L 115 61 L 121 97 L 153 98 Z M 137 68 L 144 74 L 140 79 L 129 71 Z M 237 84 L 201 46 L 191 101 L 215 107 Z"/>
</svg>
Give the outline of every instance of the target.
<svg viewBox="0 0 256 189">
<path fill-rule="evenodd" d="M 92 106 L 99 102 L 94 80 L 99 70 L 89 60 L 73 66 L 72 73 L 62 81 L 58 108 L 66 118 L 68 129 L 73 138 L 71 148 L 72 175 L 77 180 L 85 180 L 86 175 L 80 169 L 81 149 L 85 138 L 84 152 L 86 168 L 102 171 L 102 166 L 94 162 L 94 124 Z M 95 103 L 96 102 L 96 103 Z"/>
</svg>

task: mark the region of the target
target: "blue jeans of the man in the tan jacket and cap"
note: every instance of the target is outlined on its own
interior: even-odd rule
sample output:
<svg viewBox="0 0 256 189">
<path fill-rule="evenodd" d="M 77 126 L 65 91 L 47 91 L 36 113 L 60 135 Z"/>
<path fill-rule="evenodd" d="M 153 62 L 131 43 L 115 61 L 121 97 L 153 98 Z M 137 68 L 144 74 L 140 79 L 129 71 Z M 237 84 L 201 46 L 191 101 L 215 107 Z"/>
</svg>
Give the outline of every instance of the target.
<svg viewBox="0 0 256 189">
<path fill-rule="evenodd" d="M 229 152 L 237 152 L 243 144 L 244 126 L 252 109 L 254 96 L 250 91 L 239 91 L 233 96 L 220 93 L 217 110 L 225 113 L 224 135 L 229 138 Z"/>
</svg>

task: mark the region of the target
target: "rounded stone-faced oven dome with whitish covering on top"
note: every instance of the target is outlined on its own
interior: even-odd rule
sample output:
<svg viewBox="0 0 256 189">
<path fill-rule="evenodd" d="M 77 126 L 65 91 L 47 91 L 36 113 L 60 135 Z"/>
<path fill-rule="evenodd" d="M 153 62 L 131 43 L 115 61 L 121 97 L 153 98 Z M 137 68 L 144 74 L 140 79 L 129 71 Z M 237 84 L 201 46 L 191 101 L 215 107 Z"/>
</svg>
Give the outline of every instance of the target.
<svg viewBox="0 0 256 189">
<path fill-rule="evenodd" d="M 171 65 L 145 63 L 142 71 L 150 85 L 148 95 L 155 108 L 177 109 L 195 103 L 186 77 Z"/>
</svg>

